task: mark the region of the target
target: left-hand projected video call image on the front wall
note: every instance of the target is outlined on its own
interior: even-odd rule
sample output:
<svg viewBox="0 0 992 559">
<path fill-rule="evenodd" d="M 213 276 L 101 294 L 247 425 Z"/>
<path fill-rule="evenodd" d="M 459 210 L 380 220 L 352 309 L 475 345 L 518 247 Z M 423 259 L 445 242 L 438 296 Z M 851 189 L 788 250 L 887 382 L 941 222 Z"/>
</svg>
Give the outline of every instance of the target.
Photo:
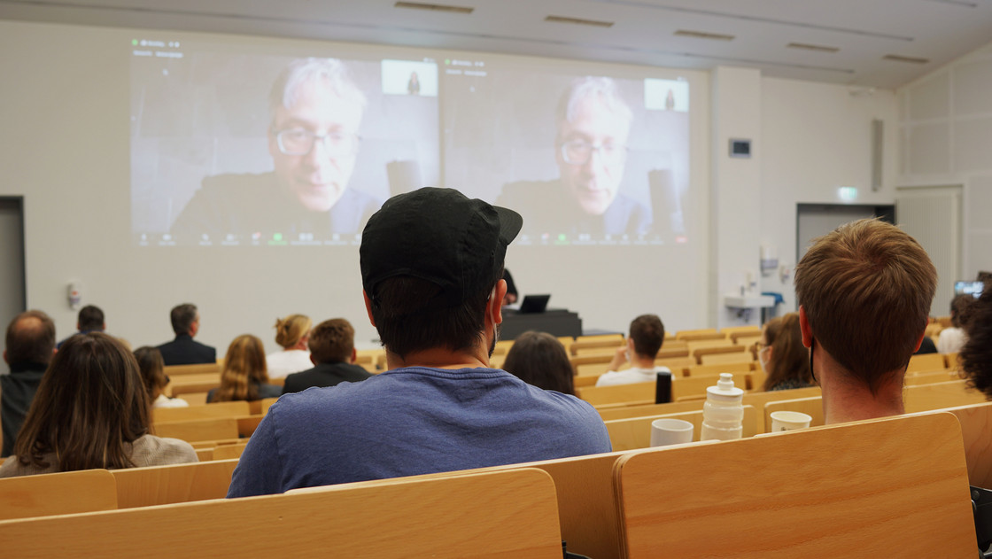
<svg viewBox="0 0 992 559">
<path fill-rule="evenodd" d="M 437 111 L 431 61 L 135 56 L 132 231 L 353 243 L 387 198 L 439 183 Z"/>
</svg>

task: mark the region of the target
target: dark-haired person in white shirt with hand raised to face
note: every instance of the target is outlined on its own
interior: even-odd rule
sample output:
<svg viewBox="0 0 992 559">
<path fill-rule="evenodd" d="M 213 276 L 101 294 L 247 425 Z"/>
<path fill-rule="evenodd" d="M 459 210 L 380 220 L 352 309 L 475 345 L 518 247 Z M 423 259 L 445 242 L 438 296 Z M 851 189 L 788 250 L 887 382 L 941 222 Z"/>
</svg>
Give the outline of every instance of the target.
<svg viewBox="0 0 992 559">
<path fill-rule="evenodd" d="M 655 357 L 665 343 L 665 325 L 657 315 L 641 315 L 630 323 L 627 346 L 617 349 L 610 361 L 610 370 L 599 376 L 596 386 L 614 386 L 635 382 L 654 382 L 659 372 L 669 372 L 667 366 L 655 366 Z M 625 363 L 631 367 L 618 370 Z"/>
</svg>

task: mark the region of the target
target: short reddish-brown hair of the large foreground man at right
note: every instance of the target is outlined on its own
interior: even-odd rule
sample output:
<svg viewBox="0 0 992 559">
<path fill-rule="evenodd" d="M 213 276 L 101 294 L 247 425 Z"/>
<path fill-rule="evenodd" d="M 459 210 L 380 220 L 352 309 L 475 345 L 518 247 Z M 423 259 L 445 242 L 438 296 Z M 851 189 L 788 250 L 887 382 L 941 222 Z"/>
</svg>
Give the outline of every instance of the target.
<svg viewBox="0 0 992 559">
<path fill-rule="evenodd" d="M 796 266 L 796 298 L 816 344 L 873 394 L 890 373 L 906 370 L 935 291 L 927 251 L 878 219 L 814 239 Z"/>
</svg>

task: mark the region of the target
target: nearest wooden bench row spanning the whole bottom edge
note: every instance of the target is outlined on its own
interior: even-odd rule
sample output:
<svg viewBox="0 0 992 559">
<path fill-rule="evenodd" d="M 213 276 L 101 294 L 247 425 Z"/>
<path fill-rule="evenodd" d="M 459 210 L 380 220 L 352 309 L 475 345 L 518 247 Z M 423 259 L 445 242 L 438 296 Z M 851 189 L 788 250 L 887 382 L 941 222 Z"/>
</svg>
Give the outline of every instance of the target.
<svg viewBox="0 0 992 559">
<path fill-rule="evenodd" d="M 551 558 L 561 556 L 562 539 L 569 551 L 597 559 L 869 557 L 894 549 L 971 557 L 969 472 L 988 479 L 988 437 L 976 433 L 992 425 L 992 404 L 952 412 L 283 495 L 11 519 L 0 521 L 0 541 L 16 557 L 140 550 Z M 968 424 L 963 437 L 958 418 Z M 985 463 L 972 468 L 966 451 Z M 178 467 L 158 470 L 168 468 Z M 54 476 L 68 475 L 35 478 Z M 14 481 L 0 480 L 0 498 Z M 103 485 L 118 491 L 117 500 L 121 491 L 158 496 L 158 489 Z"/>
</svg>

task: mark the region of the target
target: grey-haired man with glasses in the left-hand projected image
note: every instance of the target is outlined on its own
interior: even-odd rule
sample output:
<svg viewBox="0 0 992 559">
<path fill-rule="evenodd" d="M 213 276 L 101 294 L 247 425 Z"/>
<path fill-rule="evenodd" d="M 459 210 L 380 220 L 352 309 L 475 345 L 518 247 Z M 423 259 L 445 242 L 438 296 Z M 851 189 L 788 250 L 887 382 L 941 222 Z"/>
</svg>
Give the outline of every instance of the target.
<svg viewBox="0 0 992 559">
<path fill-rule="evenodd" d="M 381 201 L 348 188 L 365 95 L 335 59 L 300 59 L 272 88 L 274 172 L 208 177 L 180 214 L 180 234 L 271 234 L 319 240 L 357 233 Z"/>
</svg>

